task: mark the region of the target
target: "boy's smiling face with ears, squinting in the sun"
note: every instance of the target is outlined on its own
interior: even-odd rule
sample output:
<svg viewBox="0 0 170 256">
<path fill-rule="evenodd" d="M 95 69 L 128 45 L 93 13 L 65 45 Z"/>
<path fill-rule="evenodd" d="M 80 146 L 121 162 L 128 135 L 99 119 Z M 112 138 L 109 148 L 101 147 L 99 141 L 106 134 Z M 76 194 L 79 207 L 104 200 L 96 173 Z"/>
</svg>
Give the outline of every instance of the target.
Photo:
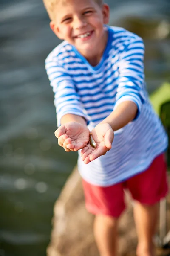
<svg viewBox="0 0 170 256">
<path fill-rule="evenodd" d="M 103 25 L 109 20 L 109 7 L 94 0 L 61 0 L 55 9 L 56 19 L 50 26 L 58 38 L 68 41 L 88 58 L 105 49 Z"/>
</svg>

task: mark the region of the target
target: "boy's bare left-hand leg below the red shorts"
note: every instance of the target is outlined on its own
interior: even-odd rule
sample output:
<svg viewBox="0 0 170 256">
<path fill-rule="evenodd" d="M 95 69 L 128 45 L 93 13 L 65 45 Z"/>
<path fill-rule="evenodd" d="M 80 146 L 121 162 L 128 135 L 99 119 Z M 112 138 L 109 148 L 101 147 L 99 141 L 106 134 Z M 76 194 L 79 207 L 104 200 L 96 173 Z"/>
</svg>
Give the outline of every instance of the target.
<svg viewBox="0 0 170 256">
<path fill-rule="evenodd" d="M 117 218 L 96 215 L 94 236 L 100 256 L 116 256 Z"/>
</svg>

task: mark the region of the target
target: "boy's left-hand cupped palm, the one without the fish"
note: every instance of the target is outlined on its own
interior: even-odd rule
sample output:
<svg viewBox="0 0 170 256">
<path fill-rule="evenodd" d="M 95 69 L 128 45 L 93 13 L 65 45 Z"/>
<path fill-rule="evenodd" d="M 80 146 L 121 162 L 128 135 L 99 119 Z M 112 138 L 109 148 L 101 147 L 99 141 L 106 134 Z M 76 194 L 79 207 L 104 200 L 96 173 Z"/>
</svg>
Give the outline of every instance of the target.
<svg viewBox="0 0 170 256">
<path fill-rule="evenodd" d="M 87 126 L 78 122 L 65 123 L 55 131 L 59 146 L 67 152 L 84 148 L 89 141 L 89 135 Z"/>
</svg>

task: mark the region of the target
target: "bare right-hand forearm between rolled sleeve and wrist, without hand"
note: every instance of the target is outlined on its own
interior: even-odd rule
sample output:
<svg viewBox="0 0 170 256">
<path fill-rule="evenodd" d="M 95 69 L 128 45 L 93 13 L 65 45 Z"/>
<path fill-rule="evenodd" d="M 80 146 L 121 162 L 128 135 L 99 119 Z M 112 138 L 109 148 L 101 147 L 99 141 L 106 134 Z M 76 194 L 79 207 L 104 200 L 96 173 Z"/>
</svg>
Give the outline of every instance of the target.
<svg viewBox="0 0 170 256">
<path fill-rule="evenodd" d="M 122 102 L 101 123 L 108 123 L 113 131 L 117 131 L 135 118 L 137 110 L 137 105 L 134 102 Z"/>
</svg>

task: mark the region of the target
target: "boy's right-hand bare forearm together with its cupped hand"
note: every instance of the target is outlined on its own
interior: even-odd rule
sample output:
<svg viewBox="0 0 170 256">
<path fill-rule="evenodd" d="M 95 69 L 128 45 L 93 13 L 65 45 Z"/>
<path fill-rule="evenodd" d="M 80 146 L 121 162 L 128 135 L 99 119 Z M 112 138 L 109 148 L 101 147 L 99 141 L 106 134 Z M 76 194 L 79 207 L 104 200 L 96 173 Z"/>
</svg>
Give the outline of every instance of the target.
<svg viewBox="0 0 170 256">
<path fill-rule="evenodd" d="M 136 117 L 137 105 L 131 101 L 120 103 L 117 108 L 91 131 L 96 142 L 96 148 L 88 143 L 81 151 L 82 160 L 85 164 L 106 154 L 111 149 L 114 139 L 114 131 L 127 125 Z"/>
</svg>

